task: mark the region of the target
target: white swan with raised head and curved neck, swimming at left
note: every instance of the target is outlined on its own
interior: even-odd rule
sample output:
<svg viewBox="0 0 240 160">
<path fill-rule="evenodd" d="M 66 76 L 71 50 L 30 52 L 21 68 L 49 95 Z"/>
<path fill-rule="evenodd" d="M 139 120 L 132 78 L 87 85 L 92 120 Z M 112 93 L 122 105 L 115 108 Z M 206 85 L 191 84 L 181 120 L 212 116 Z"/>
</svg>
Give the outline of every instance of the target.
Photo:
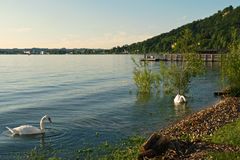
<svg viewBox="0 0 240 160">
<path fill-rule="evenodd" d="M 45 124 L 44 121 L 48 120 L 52 123 L 51 118 L 48 115 L 45 115 L 40 120 L 40 129 L 31 125 L 21 125 L 16 128 L 6 127 L 13 135 L 33 135 L 33 134 L 42 134 L 45 133 Z"/>
</svg>

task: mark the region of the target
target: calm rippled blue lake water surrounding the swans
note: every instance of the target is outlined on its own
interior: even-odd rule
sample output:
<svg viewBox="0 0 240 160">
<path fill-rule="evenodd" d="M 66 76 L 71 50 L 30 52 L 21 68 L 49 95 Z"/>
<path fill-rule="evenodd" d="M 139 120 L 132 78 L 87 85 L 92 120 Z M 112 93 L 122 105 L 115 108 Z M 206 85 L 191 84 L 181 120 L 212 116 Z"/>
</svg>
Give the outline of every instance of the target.
<svg viewBox="0 0 240 160">
<path fill-rule="evenodd" d="M 14 159 L 35 146 L 63 149 L 67 155 L 105 141 L 149 135 L 217 101 L 215 64 L 194 78 L 185 108 L 175 108 L 173 96 L 137 96 L 133 68 L 129 55 L 0 56 L 0 159 Z M 53 123 L 46 124 L 44 137 L 12 137 L 5 128 L 38 127 L 45 114 Z"/>
</svg>

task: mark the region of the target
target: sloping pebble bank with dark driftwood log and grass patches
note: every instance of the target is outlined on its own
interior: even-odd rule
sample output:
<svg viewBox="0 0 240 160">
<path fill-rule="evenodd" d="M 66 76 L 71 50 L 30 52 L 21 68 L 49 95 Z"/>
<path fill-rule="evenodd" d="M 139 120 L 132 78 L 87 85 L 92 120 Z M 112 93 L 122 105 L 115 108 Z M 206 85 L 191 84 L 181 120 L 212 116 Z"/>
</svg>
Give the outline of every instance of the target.
<svg viewBox="0 0 240 160">
<path fill-rule="evenodd" d="M 239 117 L 240 98 L 224 98 L 153 133 L 143 144 L 138 159 L 219 159 L 219 153 L 221 157 L 240 158 L 240 141 L 234 139 L 234 134 L 238 135 L 239 132 L 228 130 L 239 130 Z M 223 132 L 220 137 L 219 132 Z"/>
</svg>

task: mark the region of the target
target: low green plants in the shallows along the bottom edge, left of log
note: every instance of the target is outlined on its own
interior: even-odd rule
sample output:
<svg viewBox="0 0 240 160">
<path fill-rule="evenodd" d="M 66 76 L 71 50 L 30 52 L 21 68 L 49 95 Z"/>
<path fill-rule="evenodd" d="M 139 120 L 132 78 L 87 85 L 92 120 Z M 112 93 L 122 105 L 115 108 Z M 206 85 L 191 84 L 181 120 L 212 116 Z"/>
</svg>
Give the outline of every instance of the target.
<svg viewBox="0 0 240 160">
<path fill-rule="evenodd" d="M 139 149 L 145 139 L 141 136 L 132 136 L 113 145 L 105 141 L 99 146 L 82 148 L 72 152 L 72 157 L 63 159 L 84 159 L 84 160 L 133 160 L 137 159 Z M 36 147 L 24 155 L 19 155 L 17 159 L 26 160 L 61 160 L 56 153 L 64 154 L 61 150 L 43 149 Z M 69 154 L 69 153 L 68 153 Z"/>
</svg>

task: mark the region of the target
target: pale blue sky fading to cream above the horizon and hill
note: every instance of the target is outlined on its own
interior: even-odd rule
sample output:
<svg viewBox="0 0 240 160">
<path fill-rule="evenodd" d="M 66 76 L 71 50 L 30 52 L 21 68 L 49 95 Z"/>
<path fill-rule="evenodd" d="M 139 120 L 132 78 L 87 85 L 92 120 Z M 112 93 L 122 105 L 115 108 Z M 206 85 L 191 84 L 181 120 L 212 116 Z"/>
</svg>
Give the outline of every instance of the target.
<svg viewBox="0 0 240 160">
<path fill-rule="evenodd" d="M 240 0 L 0 0 L 0 48 L 112 48 Z"/>
</svg>

